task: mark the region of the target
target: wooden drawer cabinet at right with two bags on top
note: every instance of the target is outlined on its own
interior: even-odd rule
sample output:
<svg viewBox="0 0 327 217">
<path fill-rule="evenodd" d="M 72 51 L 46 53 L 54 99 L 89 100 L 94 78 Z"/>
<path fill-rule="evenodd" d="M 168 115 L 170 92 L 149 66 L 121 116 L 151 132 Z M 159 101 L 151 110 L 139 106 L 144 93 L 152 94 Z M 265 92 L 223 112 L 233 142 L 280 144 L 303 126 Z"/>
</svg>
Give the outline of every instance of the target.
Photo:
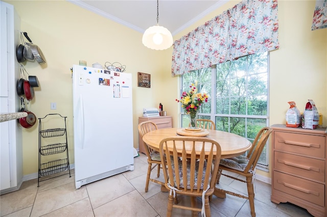
<svg viewBox="0 0 327 217">
<path fill-rule="evenodd" d="M 314 216 L 327 215 L 325 128 L 272 125 L 271 201 L 290 202 Z"/>
</svg>

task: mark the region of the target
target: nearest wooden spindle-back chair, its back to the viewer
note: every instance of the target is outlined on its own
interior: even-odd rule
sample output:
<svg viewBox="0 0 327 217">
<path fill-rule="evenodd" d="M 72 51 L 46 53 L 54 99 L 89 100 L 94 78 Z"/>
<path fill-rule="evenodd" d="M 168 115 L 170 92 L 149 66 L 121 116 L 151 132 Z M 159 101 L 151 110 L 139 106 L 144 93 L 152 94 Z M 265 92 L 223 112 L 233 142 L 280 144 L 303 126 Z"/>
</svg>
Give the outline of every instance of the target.
<svg viewBox="0 0 327 217">
<path fill-rule="evenodd" d="M 159 146 L 168 195 L 167 216 L 173 208 L 191 210 L 211 216 L 209 196 L 214 194 L 218 177 L 221 148 L 218 142 L 205 137 L 171 137 L 161 140 Z M 212 167 L 214 169 L 212 169 Z M 176 195 L 191 197 L 191 206 L 173 204 Z M 202 198 L 202 208 L 197 206 Z"/>
</svg>

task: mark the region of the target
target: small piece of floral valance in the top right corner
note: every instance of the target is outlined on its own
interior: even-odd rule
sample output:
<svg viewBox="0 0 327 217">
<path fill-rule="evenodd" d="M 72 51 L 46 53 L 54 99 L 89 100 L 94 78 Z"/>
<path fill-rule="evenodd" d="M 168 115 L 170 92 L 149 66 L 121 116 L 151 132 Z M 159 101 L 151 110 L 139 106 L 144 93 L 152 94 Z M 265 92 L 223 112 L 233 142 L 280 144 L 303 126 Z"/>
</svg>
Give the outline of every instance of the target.
<svg viewBox="0 0 327 217">
<path fill-rule="evenodd" d="M 327 28 L 327 0 L 317 0 L 313 14 L 312 30 Z"/>
</svg>

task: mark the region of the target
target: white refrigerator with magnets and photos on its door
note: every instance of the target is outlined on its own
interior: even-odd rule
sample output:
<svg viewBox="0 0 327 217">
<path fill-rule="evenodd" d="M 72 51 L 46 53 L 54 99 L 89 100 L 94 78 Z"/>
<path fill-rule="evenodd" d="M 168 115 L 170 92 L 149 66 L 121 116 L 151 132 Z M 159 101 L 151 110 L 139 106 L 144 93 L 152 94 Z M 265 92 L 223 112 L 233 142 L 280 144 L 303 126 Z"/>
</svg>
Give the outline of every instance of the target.
<svg viewBox="0 0 327 217">
<path fill-rule="evenodd" d="M 134 170 L 132 75 L 73 66 L 75 186 Z"/>
</svg>

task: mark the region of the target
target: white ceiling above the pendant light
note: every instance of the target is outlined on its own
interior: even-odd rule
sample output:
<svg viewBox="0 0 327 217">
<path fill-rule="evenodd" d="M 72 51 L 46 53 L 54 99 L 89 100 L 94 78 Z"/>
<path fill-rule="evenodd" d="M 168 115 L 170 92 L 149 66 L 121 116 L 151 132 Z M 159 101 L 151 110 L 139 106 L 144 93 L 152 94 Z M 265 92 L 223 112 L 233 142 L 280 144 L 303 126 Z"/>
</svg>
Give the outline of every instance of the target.
<svg viewBox="0 0 327 217">
<path fill-rule="evenodd" d="M 67 0 L 84 9 L 144 33 L 157 24 L 157 1 Z M 176 35 L 229 0 L 160 0 L 159 25 Z"/>
</svg>

